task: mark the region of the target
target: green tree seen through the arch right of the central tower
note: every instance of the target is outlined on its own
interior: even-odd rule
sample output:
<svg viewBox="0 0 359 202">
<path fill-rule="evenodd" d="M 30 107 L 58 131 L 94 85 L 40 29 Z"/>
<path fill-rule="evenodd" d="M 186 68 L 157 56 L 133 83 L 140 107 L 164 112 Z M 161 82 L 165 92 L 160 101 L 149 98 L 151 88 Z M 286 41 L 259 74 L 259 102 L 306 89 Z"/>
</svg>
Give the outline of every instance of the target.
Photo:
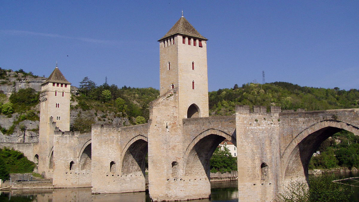
<svg viewBox="0 0 359 202">
<path fill-rule="evenodd" d="M 237 170 L 237 158 L 232 157 L 227 147 L 216 148 L 209 161 L 211 173 Z"/>
</svg>

